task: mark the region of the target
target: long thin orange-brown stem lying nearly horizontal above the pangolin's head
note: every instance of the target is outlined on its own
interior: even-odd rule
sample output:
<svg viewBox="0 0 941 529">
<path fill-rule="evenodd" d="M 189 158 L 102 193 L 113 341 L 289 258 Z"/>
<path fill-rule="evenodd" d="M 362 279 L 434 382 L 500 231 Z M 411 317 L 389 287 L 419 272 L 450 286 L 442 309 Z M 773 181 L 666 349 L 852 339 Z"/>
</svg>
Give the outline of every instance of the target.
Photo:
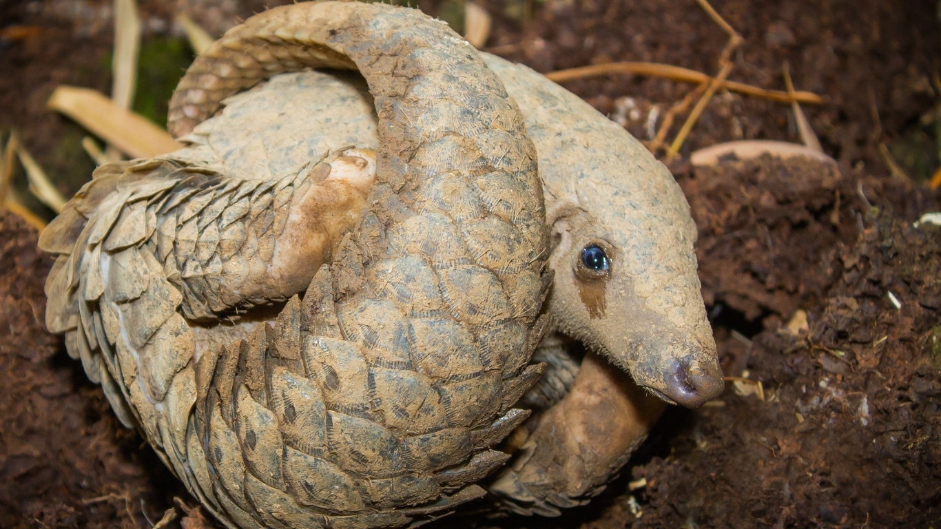
<svg viewBox="0 0 941 529">
<path fill-rule="evenodd" d="M 517 44 L 508 44 L 506 46 L 490 48 L 487 51 L 490 53 L 511 53 L 517 51 L 517 47 Z M 506 50 L 503 50 L 503 48 L 506 48 Z M 593 64 L 591 66 L 582 66 L 579 68 L 549 72 L 546 73 L 546 77 L 556 83 L 563 83 L 573 79 L 596 77 L 599 75 L 610 75 L 612 73 L 647 75 L 650 77 L 661 77 L 663 79 L 671 79 L 674 81 L 695 84 L 709 83 L 710 81 L 714 80 L 714 77 L 710 77 L 703 72 L 696 72 L 695 70 L 690 70 L 688 68 L 681 68 L 678 66 L 671 66 L 669 64 L 660 64 L 656 62 L 609 62 L 607 64 Z M 791 103 L 794 101 L 803 104 L 823 103 L 823 98 L 821 98 L 821 96 L 806 91 L 795 91 L 793 94 L 789 94 L 788 92 L 782 90 L 766 90 L 764 88 L 753 87 L 751 85 L 745 85 L 743 83 L 727 80 L 723 80 L 719 88 L 725 88 L 728 91 L 740 93 L 742 95 L 774 101 L 775 103 Z"/>
</svg>

